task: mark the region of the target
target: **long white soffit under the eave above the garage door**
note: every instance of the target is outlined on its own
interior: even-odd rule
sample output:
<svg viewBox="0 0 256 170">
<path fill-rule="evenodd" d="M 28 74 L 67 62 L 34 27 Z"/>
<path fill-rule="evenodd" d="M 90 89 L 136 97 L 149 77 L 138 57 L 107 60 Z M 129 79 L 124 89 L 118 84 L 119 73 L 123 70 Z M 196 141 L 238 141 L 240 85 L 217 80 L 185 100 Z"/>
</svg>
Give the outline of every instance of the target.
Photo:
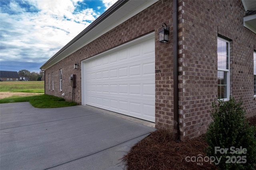
<svg viewBox="0 0 256 170">
<path fill-rule="evenodd" d="M 58 51 L 58 53 L 56 53 L 43 66 L 41 66 L 41 69 L 45 70 L 50 66 L 53 66 L 54 64 L 58 63 L 62 59 L 74 53 L 75 51 L 84 47 L 88 43 L 104 35 L 114 27 L 120 25 L 121 23 L 128 20 L 129 18 L 132 18 L 139 12 L 143 11 L 144 9 L 151 6 L 152 4 L 156 3 L 157 1 L 158 0 L 130 0 L 126 2 L 124 5 L 118 8 L 115 12 L 113 12 L 110 16 L 108 16 L 106 19 L 98 23 L 98 25 L 93 27 L 90 31 L 86 32 L 81 37 L 78 37 L 79 35 L 75 37 L 74 39 L 76 38 L 77 39 L 75 41 L 73 39 L 72 40 L 73 43 L 70 43 L 70 45 L 68 45 L 68 47 L 66 47 L 65 49 L 62 48 L 60 51 Z"/>
</svg>

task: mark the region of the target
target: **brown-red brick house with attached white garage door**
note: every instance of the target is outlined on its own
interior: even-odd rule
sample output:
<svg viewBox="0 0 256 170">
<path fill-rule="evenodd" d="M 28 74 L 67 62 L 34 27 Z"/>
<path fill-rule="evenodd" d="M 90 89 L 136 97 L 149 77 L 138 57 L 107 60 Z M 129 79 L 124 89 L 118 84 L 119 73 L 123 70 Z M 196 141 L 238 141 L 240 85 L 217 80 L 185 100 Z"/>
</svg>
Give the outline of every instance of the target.
<svg viewBox="0 0 256 170">
<path fill-rule="evenodd" d="M 206 132 L 218 97 L 242 97 L 253 116 L 255 11 L 255 0 L 120 0 L 41 66 L 45 93 L 155 122 L 181 140 Z"/>
</svg>

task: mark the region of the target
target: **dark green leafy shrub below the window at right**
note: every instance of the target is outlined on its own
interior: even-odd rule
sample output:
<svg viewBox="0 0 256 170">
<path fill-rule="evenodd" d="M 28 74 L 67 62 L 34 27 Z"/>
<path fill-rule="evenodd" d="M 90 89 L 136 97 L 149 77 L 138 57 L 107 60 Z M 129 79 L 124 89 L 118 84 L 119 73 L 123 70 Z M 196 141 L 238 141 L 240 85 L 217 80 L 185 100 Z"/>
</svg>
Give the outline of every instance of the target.
<svg viewBox="0 0 256 170">
<path fill-rule="evenodd" d="M 227 102 L 218 100 L 212 107 L 213 122 L 206 133 L 207 156 L 221 158 L 219 164 L 218 161 L 213 162 L 221 170 L 255 169 L 256 128 L 246 121 L 246 111 L 242 107 L 241 99 L 239 102 L 234 97 L 230 97 Z M 243 150 L 240 150 L 241 147 Z M 234 153 L 234 150 L 240 152 Z"/>
</svg>

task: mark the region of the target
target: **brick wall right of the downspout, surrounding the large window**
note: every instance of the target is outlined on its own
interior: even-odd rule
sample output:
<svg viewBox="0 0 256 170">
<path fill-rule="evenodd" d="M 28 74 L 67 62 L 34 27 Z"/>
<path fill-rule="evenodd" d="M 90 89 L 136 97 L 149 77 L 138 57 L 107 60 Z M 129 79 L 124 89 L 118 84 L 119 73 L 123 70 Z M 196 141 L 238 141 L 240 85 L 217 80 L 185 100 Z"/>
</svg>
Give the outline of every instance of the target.
<svg viewBox="0 0 256 170">
<path fill-rule="evenodd" d="M 179 3 L 179 105 L 181 137 L 206 132 L 217 100 L 217 37 L 230 41 L 230 95 L 242 97 L 255 114 L 253 50 L 256 34 L 243 26 L 240 0 L 184 0 Z"/>
</svg>

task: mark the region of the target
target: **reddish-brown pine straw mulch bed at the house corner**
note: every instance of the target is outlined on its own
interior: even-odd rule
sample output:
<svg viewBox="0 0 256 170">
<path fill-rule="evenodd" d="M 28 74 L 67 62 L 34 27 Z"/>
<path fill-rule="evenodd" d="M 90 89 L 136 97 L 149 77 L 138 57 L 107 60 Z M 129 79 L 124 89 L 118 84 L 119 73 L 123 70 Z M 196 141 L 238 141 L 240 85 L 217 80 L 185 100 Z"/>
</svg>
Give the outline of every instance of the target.
<svg viewBox="0 0 256 170">
<path fill-rule="evenodd" d="M 256 116 L 249 119 L 256 125 Z M 185 141 L 173 141 L 168 131 L 157 130 L 135 144 L 122 162 L 127 170 L 217 170 L 214 163 L 188 162 L 192 156 L 206 156 L 207 143 L 204 135 Z M 186 159 L 186 156 L 190 158 Z"/>
</svg>

